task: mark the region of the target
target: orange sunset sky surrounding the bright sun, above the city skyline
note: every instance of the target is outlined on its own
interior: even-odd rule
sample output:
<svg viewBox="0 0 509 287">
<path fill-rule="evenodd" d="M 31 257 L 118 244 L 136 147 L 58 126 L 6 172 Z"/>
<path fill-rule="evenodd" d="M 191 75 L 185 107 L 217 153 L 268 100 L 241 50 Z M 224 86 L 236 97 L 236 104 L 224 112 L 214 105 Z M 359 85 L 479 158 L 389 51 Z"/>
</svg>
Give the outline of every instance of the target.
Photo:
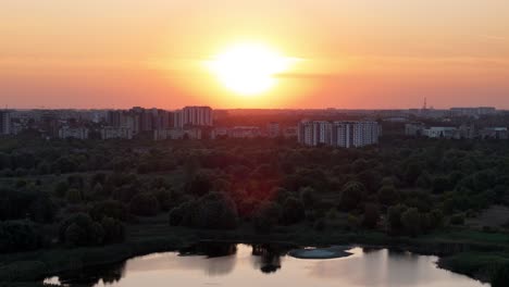
<svg viewBox="0 0 509 287">
<path fill-rule="evenodd" d="M 299 59 L 245 97 L 203 62 L 236 42 Z M 509 109 L 507 0 L 1 0 L 9 108 Z"/>
</svg>

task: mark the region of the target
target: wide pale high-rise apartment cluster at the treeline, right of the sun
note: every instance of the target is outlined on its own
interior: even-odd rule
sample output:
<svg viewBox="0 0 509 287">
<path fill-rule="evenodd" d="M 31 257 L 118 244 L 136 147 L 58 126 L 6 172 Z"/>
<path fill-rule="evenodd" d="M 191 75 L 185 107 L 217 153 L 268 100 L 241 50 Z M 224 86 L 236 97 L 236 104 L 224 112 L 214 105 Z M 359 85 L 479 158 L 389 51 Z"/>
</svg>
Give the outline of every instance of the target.
<svg viewBox="0 0 509 287">
<path fill-rule="evenodd" d="M 327 145 L 359 148 L 378 142 L 376 122 L 303 121 L 298 127 L 298 141 L 306 146 Z"/>
</svg>

